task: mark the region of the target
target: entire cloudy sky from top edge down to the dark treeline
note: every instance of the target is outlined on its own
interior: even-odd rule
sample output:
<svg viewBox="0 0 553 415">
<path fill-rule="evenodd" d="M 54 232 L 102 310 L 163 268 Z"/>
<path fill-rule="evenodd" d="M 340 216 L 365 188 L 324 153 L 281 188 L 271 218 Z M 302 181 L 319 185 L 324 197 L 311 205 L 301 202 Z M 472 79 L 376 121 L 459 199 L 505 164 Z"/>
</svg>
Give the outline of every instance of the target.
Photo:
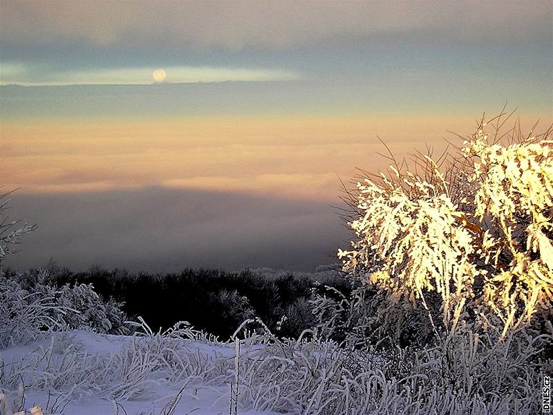
<svg viewBox="0 0 553 415">
<path fill-rule="evenodd" d="M 379 138 L 545 129 L 552 75 L 551 1 L 0 0 L 6 263 L 314 270 Z"/>
</svg>

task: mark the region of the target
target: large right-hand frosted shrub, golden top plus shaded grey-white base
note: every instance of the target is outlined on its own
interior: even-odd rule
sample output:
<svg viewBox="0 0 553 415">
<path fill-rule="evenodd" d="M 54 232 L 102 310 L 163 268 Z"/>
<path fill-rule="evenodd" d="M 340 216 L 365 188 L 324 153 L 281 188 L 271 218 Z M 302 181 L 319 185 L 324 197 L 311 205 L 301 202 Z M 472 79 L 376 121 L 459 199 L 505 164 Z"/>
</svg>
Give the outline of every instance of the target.
<svg viewBox="0 0 553 415">
<path fill-rule="evenodd" d="M 356 356 L 320 374 L 329 414 L 538 411 L 553 369 L 552 131 L 484 127 L 458 156 L 395 163 L 350 194 L 355 240 L 339 257 L 353 291 L 312 300 L 323 338 Z"/>
</svg>

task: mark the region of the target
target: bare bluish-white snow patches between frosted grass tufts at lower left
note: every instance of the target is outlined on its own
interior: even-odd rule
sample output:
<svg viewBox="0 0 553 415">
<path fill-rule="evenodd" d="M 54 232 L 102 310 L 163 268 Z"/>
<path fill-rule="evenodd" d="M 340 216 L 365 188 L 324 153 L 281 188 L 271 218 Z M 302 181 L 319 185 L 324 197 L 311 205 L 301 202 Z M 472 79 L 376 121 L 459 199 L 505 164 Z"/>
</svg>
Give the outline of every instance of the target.
<svg viewBox="0 0 553 415">
<path fill-rule="evenodd" d="M 124 335 L 104 335 L 97 334 L 85 330 L 73 330 L 66 333 L 50 333 L 44 340 L 31 342 L 29 344 L 17 345 L 8 349 L 0 350 L 0 360 L 6 367 L 10 365 L 18 365 L 23 362 L 22 367 L 30 367 L 37 356 L 44 356 L 45 351 L 48 351 L 52 344 L 59 343 L 64 347 L 55 347 L 51 360 L 56 362 L 59 360 L 67 360 L 68 356 L 73 353 L 83 353 L 93 361 L 95 358 L 103 359 L 104 362 L 109 362 L 115 356 L 122 356 L 129 347 L 132 347 L 133 342 L 149 342 L 151 339 L 133 338 Z M 71 347 L 74 349 L 72 350 Z M 229 365 L 232 367 L 234 360 L 234 344 L 218 344 L 194 342 L 192 340 L 180 340 L 179 347 L 187 349 L 185 352 L 190 356 L 198 357 L 198 361 L 206 362 L 208 360 L 229 360 Z M 182 352 L 182 350 L 181 350 Z M 46 359 L 43 359 L 46 360 Z M 205 363 L 204 363 L 205 364 Z M 44 366 L 41 366 L 44 368 Z M 40 370 L 37 369 L 36 375 L 40 376 Z M 27 371 L 24 374 L 24 384 L 32 383 L 32 374 Z M 71 415 L 91 415 L 91 414 L 128 414 L 128 415 L 158 415 L 165 414 L 166 407 L 179 394 L 182 385 L 187 380 L 167 381 L 167 373 L 162 369 L 153 371 L 148 376 L 149 388 L 135 394 L 129 399 L 112 400 L 107 397 L 97 396 L 92 394 L 86 396 L 82 394 L 79 398 L 66 400 L 62 395 L 59 400 L 57 409 L 59 414 Z M 188 385 L 182 391 L 182 397 L 176 405 L 175 415 L 218 415 L 229 413 L 229 385 L 209 384 L 209 381 L 201 381 L 198 377 L 187 382 Z M 53 385 L 50 385 L 53 386 Z M 70 385 L 55 389 L 48 387 L 42 389 L 39 387 L 25 387 L 24 407 L 28 411 L 31 407 L 39 405 L 44 410 L 44 414 L 49 414 L 48 411 L 53 406 L 53 401 L 59 394 L 70 392 Z M 50 398 L 48 398 L 50 391 Z M 48 402 L 49 401 L 49 402 Z M 117 405 L 117 408 L 115 407 Z M 1 412 L 1 411 L 0 411 Z M 271 411 L 255 411 L 247 408 L 240 408 L 241 415 L 273 415 L 277 412 Z M 2 413 L 3 414 L 3 413 Z M 279 412 L 281 414 L 281 412 Z M 10 414 L 11 415 L 11 414 Z"/>
</svg>

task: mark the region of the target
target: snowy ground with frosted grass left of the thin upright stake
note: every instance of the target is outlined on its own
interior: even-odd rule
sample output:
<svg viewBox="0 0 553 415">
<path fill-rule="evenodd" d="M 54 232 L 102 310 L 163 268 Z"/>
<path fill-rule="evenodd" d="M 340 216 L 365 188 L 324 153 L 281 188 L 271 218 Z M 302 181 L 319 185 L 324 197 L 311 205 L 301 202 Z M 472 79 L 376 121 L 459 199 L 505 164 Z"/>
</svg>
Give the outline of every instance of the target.
<svg viewBox="0 0 553 415">
<path fill-rule="evenodd" d="M 6 396 L 11 408 L 0 413 L 39 405 L 45 415 L 161 415 L 171 413 L 176 403 L 175 415 L 229 414 L 227 381 L 233 378 L 234 356 L 234 344 L 83 330 L 51 333 L 41 341 L 0 349 L 4 376 L 17 377 L 19 370 L 24 385 L 24 403 L 19 403 L 21 392 L 12 391 Z M 164 359 L 165 367 L 157 365 Z M 238 413 L 277 414 L 240 404 Z"/>
</svg>

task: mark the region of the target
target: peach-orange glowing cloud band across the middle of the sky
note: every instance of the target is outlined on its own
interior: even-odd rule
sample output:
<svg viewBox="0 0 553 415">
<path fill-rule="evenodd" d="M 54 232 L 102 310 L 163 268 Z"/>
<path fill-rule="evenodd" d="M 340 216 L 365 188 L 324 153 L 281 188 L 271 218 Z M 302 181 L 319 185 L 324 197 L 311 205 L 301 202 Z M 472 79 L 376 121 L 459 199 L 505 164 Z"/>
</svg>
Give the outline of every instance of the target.
<svg viewBox="0 0 553 415">
<path fill-rule="evenodd" d="M 380 136 L 399 158 L 436 154 L 476 118 L 182 118 L 155 122 L 3 124 L 2 181 L 24 192 L 162 187 L 335 201 L 355 167 L 386 167 Z"/>
</svg>

